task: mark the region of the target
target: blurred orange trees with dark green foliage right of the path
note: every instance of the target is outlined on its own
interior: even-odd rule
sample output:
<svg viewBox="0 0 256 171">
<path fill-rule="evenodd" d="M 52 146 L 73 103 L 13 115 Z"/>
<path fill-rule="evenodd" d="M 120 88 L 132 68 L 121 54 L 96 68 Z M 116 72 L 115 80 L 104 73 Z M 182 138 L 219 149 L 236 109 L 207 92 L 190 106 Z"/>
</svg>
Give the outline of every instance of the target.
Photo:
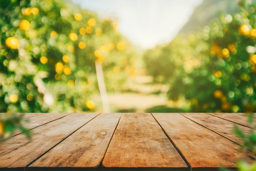
<svg viewBox="0 0 256 171">
<path fill-rule="evenodd" d="M 256 3 L 145 52 L 148 73 L 184 96 L 193 112 L 253 112 L 256 106 Z"/>
</svg>

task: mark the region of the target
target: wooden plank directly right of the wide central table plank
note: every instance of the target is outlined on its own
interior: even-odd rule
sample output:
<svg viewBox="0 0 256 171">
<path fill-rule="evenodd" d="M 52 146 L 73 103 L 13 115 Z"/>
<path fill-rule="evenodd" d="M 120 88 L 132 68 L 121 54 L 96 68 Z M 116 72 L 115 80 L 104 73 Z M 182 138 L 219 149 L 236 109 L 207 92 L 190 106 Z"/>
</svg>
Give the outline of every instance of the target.
<svg viewBox="0 0 256 171">
<path fill-rule="evenodd" d="M 254 156 L 249 151 L 239 152 L 239 145 L 178 113 L 153 113 L 153 116 L 193 169 L 236 167 L 240 157 L 253 162 Z"/>
</svg>

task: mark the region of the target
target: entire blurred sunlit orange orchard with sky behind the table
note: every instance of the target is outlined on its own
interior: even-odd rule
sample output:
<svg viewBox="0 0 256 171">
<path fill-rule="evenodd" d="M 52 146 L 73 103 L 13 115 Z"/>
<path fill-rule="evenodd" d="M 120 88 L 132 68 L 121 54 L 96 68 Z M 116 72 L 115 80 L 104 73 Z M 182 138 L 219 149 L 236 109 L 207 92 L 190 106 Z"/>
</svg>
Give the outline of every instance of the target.
<svg viewBox="0 0 256 171">
<path fill-rule="evenodd" d="M 0 112 L 254 112 L 255 0 L 0 0 Z"/>
</svg>

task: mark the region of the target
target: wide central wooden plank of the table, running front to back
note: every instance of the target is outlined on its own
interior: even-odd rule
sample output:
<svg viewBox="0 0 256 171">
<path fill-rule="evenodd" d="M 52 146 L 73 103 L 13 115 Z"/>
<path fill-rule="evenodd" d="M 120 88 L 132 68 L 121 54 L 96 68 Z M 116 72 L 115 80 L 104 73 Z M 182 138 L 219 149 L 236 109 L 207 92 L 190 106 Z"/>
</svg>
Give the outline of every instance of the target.
<svg viewBox="0 0 256 171">
<path fill-rule="evenodd" d="M 123 113 L 103 159 L 104 167 L 186 168 L 150 113 Z"/>
</svg>

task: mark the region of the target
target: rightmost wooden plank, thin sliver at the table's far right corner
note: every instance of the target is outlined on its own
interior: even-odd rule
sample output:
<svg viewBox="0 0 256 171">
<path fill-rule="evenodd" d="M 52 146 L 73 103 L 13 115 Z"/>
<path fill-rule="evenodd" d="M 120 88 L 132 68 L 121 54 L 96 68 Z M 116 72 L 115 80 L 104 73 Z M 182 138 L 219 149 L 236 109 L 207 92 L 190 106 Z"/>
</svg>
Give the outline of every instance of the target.
<svg viewBox="0 0 256 171">
<path fill-rule="evenodd" d="M 241 115 L 239 113 L 207 113 L 212 116 L 216 116 L 221 119 L 226 119 L 228 121 L 247 126 L 249 128 L 256 128 L 256 121 L 254 121 L 253 125 L 248 124 L 248 118 L 245 115 Z"/>
</svg>

